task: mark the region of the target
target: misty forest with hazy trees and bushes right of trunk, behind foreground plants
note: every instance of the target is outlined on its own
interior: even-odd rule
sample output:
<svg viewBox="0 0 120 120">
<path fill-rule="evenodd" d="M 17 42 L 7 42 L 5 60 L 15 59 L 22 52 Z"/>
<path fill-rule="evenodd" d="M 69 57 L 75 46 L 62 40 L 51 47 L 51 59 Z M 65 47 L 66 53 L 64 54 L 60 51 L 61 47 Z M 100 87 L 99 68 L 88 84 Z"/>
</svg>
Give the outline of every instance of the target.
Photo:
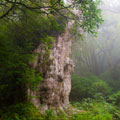
<svg viewBox="0 0 120 120">
<path fill-rule="evenodd" d="M 101 99 L 120 110 L 120 2 L 104 0 L 100 8 L 104 22 L 97 37 L 86 33 L 83 40 L 77 40 L 72 48 L 75 72 L 70 99 L 76 102 L 85 100 L 85 104 Z M 99 106 L 96 102 L 92 104 L 90 110 Z M 120 112 L 115 114 L 120 116 Z"/>
</svg>

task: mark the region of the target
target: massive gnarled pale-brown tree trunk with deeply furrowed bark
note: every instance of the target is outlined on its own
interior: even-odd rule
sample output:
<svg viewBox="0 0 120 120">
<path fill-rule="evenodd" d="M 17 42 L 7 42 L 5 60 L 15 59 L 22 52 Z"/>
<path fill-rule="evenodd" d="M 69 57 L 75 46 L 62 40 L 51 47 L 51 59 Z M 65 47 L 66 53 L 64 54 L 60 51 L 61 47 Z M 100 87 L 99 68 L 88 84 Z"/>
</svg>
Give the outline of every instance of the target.
<svg viewBox="0 0 120 120">
<path fill-rule="evenodd" d="M 64 108 L 69 105 L 69 94 L 71 91 L 71 73 L 74 64 L 70 58 L 72 39 L 70 28 L 72 23 L 68 23 L 65 32 L 55 38 L 53 48 L 50 53 L 52 63 L 48 66 L 43 82 L 38 86 L 38 91 L 28 90 L 32 96 L 40 96 L 32 98 L 31 101 L 40 109 Z M 41 52 L 40 46 L 35 52 Z M 37 68 L 39 64 L 39 56 L 37 56 L 33 68 Z M 40 68 L 41 69 L 41 68 Z"/>
</svg>

